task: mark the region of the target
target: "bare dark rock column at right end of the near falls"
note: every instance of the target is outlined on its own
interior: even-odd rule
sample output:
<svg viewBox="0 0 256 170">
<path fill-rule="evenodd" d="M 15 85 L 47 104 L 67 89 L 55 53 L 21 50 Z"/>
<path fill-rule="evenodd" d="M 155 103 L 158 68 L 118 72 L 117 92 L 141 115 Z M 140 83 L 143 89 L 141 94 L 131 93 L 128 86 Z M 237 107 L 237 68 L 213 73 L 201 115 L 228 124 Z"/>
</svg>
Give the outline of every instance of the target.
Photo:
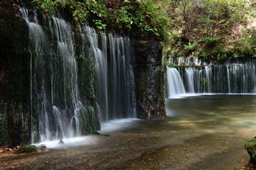
<svg viewBox="0 0 256 170">
<path fill-rule="evenodd" d="M 131 44 L 137 115 L 139 118 L 163 118 L 165 103 L 161 42 L 132 38 Z"/>
</svg>

